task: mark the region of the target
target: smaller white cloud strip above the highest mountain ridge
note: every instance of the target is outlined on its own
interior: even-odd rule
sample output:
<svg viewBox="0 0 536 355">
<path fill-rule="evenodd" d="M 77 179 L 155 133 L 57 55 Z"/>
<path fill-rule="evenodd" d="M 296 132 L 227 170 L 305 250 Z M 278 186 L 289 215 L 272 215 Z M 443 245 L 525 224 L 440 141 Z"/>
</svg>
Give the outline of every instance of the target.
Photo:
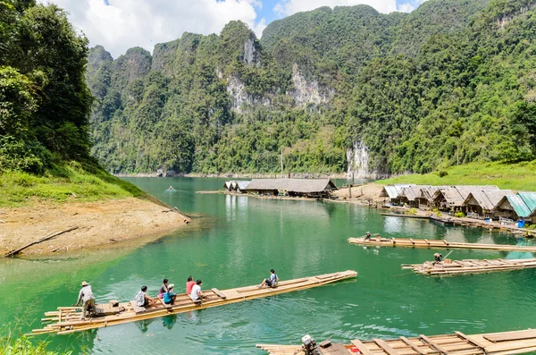
<svg viewBox="0 0 536 355">
<path fill-rule="evenodd" d="M 321 6 L 353 6 L 368 4 L 381 13 L 397 11 L 396 0 L 281 0 L 273 11 L 280 16 L 288 16 L 300 11 L 310 11 Z"/>
</svg>

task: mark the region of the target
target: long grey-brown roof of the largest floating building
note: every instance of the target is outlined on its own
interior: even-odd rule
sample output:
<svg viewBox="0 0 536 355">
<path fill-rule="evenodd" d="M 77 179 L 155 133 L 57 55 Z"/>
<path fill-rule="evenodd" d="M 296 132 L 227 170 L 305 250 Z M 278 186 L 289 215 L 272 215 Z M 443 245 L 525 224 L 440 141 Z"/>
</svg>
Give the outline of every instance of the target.
<svg viewBox="0 0 536 355">
<path fill-rule="evenodd" d="M 330 179 L 254 179 L 247 190 L 287 190 L 289 192 L 313 193 L 337 190 Z"/>
</svg>

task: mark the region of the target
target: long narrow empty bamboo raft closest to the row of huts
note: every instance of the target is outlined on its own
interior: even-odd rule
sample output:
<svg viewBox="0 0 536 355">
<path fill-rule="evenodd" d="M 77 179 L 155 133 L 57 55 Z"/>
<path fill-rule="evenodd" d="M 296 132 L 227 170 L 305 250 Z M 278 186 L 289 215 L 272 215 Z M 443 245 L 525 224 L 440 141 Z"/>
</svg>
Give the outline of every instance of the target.
<svg viewBox="0 0 536 355">
<path fill-rule="evenodd" d="M 536 252 L 536 246 L 525 245 L 506 245 L 506 244 L 479 244 L 479 243 L 462 243 L 457 241 L 445 240 L 427 240 L 427 239 L 388 239 L 388 238 L 371 238 L 365 240 L 361 238 L 348 238 L 352 244 L 379 246 L 379 247 L 406 247 L 406 248 L 438 248 L 438 249 L 482 249 L 482 250 L 505 250 L 505 251 L 528 251 Z"/>
</svg>

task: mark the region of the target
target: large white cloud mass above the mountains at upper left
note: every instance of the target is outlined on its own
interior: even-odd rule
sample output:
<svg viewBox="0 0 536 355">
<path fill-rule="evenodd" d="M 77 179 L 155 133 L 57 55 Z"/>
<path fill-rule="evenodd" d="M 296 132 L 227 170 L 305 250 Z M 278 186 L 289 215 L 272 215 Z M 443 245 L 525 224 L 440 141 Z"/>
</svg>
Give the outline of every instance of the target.
<svg viewBox="0 0 536 355">
<path fill-rule="evenodd" d="M 149 51 L 156 43 L 180 38 L 183 32 L 219 33 L 241 20 L 260 37 L 266 21 L 257 21 L 261 0 L 39 0 L 54 3 L 89 39 L 117 57 L 132 46 Z"/>
</svg>

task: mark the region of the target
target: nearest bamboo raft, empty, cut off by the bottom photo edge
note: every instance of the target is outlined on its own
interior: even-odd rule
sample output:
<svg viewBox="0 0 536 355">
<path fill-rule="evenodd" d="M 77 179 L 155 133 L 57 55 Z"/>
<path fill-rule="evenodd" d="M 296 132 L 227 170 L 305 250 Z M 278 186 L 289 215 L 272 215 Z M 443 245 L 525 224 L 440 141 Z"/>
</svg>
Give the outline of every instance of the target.
<svg viewBox="0 0 536 355">
<path fill-rule="evenodd" d="M 298 345 L 257 344 L 257 348 L 271 355 L 306 355 Z M 398 339 L 361 342 L 351 344 L 331 344 L 318 346 L 325 355 L 512 355 L 536 351 L 536 330 L 465 335 L 460 332 L 430 337 L 419 335 L 415 338 L 400 336 Z"/>
</svg>

